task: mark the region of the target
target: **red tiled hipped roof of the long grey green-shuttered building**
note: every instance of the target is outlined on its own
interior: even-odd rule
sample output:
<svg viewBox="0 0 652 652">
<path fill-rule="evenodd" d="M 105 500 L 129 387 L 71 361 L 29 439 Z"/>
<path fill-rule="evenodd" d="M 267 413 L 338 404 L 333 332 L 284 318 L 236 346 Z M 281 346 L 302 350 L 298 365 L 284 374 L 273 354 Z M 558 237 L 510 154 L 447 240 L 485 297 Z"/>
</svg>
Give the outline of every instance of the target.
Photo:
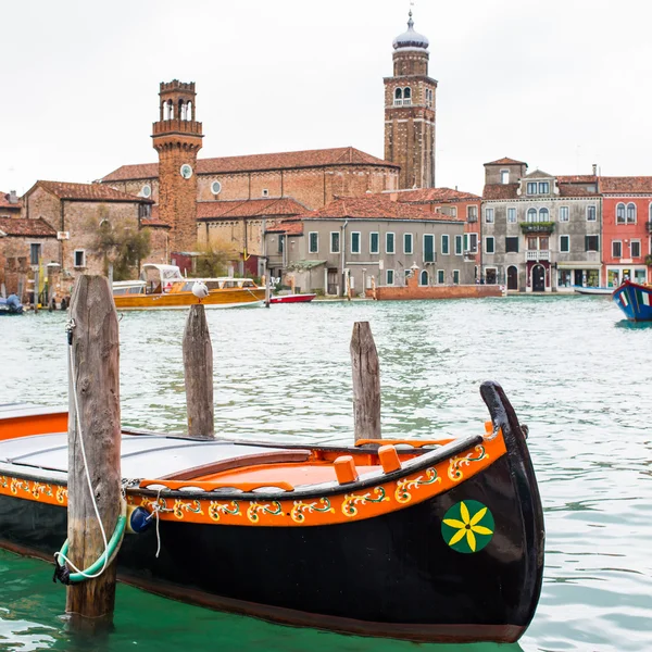
<svg viewBox="0 0 652 652">
<path fill-rule="evenodd" d="M 388 197 L 367 195 L 365 197 L 336 198 L 323 209 L 299 215 L 296 220 L 422 220 L 427 222 L 464 222 L 463 217 L 452 217 L 438 211 L 410 203 L 391 201 Z"/>
</svg>

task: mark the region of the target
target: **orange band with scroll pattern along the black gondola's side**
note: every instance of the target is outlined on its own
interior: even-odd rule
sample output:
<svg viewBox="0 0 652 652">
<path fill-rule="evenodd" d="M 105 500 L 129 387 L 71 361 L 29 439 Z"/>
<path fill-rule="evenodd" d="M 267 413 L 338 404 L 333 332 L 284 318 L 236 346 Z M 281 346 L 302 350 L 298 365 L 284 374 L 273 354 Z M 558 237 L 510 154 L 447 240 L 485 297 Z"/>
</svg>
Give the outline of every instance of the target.
<svg viewBox="0 0 652 652">
<path fill-rule="evenodd" d="M 463 454 L 453 455 L 403 478 L 383 482 L 366 490 L 335 493 L 328 498 L 220 501 L 206 491 L 186 500 L 159 496 L 139 496 L 127 490 L 127 502 L 156 511 L 162 521 L 243 526 L 312 526 L 349 523 L 372 518 L 417 504 L 457 486 L 487 468 L 505 454 L 501 437 L 485 439 Z M 342 489 L 344 489 L 342 487 Z M 67 504 L 65 486 L 0 475 L 0 494 L 53 505 Z"/>
</svg>

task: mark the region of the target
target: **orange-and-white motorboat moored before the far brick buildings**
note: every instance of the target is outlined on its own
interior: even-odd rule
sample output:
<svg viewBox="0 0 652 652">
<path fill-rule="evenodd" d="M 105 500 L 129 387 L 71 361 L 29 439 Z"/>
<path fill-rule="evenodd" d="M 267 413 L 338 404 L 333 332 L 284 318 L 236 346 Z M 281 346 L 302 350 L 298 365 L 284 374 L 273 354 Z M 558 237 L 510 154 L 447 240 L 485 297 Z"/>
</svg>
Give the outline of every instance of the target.
<svg viewBox="0 0 652 652">
<path fill-rule="evenodd" d="M 193 286 L 202 283 L 205 297 L 198 297 Z M 246 308 L 263 305 L 265 288 L 250 278 L 186 278 L 176 265 L 146 264 L 140 279 L 113 284 L 117 310 L 187 309 L 193 303 L 206 308 Z"/>
</svg>

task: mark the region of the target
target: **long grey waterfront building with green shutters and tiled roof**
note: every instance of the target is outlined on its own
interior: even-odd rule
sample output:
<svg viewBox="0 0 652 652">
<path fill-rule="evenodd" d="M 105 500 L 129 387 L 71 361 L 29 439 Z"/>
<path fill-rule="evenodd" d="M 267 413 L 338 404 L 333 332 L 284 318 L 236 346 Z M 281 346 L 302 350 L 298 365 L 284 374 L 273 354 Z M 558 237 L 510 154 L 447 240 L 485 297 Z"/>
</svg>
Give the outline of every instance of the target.
<svg viewBox="0 0 652 652">
<path fill-rule="evenodd" d="M 464 217 L 369 195 L 338 198 L 326 206 L 266 228 L 272 275 L 305 291 L 330 296 L 403 286 L 418 268 L 422 286 L 474 283 L 464 258 Z M 374 279 L 374 280 L 372 280 Z"/>
</svg>

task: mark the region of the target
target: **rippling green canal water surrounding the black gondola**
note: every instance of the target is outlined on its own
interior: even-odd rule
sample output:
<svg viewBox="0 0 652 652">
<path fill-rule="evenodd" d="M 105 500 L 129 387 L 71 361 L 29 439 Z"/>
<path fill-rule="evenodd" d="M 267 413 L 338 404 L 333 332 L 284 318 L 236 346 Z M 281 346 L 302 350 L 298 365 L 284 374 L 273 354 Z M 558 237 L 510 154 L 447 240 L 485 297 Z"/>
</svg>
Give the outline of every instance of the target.
<svg viewBox="0 0 652 652">
<path fill-rule="evenodd" d="M 51 566 L 0 551 L 0 650 L 652 650 L 652 324 L 609 298 L 511 297 L 209 311 L 221 435 L 350 442 L 349 341 L 369 321 L 387 436 L 481 430 L 482 380 L 529 426 L 546 574 L 518 644 L 415 645 L 271 625 L 120 586 L 115 631 L 73 640 Z M 126 425 L 184 428 L 185 312 L 121 321 Z M 0 319 L 0 402 L 66 404 L 65 315 Z M 380 599 L 369 595 L 369 599 Z"/>
</svg>

